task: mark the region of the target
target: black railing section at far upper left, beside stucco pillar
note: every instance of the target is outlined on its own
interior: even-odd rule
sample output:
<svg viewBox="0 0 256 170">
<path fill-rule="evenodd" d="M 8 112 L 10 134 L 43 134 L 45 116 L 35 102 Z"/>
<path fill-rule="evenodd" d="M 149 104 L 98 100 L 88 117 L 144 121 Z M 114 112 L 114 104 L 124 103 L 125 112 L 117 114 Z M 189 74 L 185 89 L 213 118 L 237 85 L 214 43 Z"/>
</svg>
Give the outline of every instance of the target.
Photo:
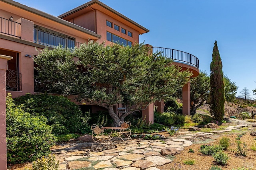
<svg viewBox="0 0 256 170">
<path fill-rule="evenodd" d="M 0 33 L 20 38 L 19 30 L 20 23 L 0 17 Z"/>
</svg>

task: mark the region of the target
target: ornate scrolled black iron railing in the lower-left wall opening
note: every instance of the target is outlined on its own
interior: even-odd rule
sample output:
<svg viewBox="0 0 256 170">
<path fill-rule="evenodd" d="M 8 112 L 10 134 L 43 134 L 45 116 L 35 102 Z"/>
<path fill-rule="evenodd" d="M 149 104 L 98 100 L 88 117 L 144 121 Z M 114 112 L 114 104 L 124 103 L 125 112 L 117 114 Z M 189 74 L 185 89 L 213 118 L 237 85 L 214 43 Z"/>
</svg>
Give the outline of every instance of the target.
<svg viewBox="0 0 256 170">
<path fill-rule="evenodd" d="M 21 74 L 15 70 L 6 70 L 6 90 L 21 91 Z"/>
</svg>

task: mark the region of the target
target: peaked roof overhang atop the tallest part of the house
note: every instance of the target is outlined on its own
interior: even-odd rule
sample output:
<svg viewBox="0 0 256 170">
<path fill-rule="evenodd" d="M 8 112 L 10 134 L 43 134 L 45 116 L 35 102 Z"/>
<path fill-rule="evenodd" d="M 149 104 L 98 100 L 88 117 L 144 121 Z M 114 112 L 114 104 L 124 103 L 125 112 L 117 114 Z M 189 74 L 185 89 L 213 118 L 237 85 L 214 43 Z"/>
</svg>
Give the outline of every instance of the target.
<svg viewBox="0 0 256 170">
<path fill-rule="evenodd" d="M 88 11 L 91 11 L 90 6 L 94 10 L 99 10 L 108 16 L 111 16 L 112 18 L 115 18 L 116 20 L 128 25 L 129 27 L 132 27 L 133 29 L 137 30 L 139 34 L 148 33 L 149 30 L 145 27 L 142 27 L 140 24 L 132 21 L 131 19 L 127 18 L 126 16 L 120 14 L 116 10 L 110 8 L 106 4 L 103 4 L 99 0 L 91 0 L 90 2 L 87 2 L 81 6 L 78 6 L 77 8 L 74 8 L 73 10 L 70 10 L 60 16 L 59 18 L 63 18 L 65 20 L 71 20 L 72 18 L 76 18 L 77 16 L 80 16 L 81 14 L 85 14 Z"/>
</svg>

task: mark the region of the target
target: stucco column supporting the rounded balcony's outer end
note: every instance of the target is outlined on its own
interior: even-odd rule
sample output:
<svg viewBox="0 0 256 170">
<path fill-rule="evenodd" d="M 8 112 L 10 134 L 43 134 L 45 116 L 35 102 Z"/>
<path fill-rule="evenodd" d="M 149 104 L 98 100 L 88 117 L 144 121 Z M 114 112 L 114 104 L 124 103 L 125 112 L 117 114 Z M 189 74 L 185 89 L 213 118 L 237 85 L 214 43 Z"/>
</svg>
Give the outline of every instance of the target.
<svg viewBox="0 0 256 170">
<path fill-rule="evenodd" d="M 190 82 L 182 88 L 182 114 L 190 115 Z"/>
</svg>

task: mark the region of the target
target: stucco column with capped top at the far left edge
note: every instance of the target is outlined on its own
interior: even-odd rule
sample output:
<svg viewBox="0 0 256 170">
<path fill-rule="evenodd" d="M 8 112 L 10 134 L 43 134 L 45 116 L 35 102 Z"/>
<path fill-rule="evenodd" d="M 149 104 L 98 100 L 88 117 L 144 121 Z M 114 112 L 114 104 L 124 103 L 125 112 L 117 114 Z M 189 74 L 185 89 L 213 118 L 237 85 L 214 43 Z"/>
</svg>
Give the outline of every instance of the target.
<svg viewBox="0 0 256 170">
<path fill-rule="evenodd" d="M 7 170 L 6 149 L 6 70 L 7 61 L 13 59 L 6 55 L 0 55 L 0 167 Z"/>
</svg>

